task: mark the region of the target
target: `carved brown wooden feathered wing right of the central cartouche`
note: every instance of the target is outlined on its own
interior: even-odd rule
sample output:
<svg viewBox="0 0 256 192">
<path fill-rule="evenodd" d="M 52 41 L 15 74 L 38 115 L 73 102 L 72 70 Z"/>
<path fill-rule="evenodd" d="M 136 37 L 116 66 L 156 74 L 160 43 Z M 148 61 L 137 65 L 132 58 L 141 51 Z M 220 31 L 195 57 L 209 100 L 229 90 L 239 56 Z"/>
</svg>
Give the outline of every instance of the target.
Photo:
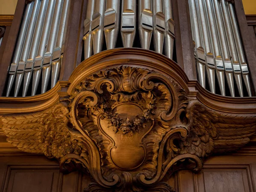
<svg viewBox="0 0 256 192">
<path fill-rule="evenodd" d="M 180 154 L 207 157 L 234 151 L 249 143 L 249 137 L 256 131 L 256 117 L 219 113 L 198 101 L 189 102 L 186 118 L 189 133 L 180 143 Z"/>
</svg>

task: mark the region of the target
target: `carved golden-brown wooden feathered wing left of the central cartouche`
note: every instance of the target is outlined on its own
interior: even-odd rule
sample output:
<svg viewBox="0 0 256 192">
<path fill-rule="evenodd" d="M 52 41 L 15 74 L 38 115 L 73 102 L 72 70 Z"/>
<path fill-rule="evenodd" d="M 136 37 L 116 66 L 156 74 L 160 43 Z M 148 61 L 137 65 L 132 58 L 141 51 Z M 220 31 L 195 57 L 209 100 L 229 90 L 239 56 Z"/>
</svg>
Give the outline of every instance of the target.
<svg viewBox="0 0 256 192">
<path fill-rule="evenodd" d="M 47 157 L 78 154 L 81 148 L 68 126 L 67 110 L 61 103 L 49 110 L 20 116 L 3 116 L 3 132 L 22 151 L 44 153 Z"/>
</svg>

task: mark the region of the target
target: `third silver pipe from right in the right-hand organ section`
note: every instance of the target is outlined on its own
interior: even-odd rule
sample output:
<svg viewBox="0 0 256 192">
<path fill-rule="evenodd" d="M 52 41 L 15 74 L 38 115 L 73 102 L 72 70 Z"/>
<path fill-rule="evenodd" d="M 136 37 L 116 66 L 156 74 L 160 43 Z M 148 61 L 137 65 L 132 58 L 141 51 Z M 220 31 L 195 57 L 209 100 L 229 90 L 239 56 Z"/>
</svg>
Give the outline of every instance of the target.
<svg viewBox="0 0 256 192">
<path fill-rule="evenodd" d="M 227 79 L 227 85 L 230 90 L 230 94 L 232 97 L 235 97 L 235 88 L 234 88 L 234 80 L 233 80 L 233 66 L 231 64 L 230 60 L 230 54 L 229 54 L 229 48 L 227 44 L 227 37 L 225 35 L 225 29 L 221 17 L 221 9 L 218 4 L 218 0 L 212 0 L 215 12 L 215 21 L 216 21 L 216 27 L 218 32 L 218 38 L 220 42 L 220 50 L 221 55 L 224 61 L 224 68 L 225 68 L 225 74 Z"/>
</svg>

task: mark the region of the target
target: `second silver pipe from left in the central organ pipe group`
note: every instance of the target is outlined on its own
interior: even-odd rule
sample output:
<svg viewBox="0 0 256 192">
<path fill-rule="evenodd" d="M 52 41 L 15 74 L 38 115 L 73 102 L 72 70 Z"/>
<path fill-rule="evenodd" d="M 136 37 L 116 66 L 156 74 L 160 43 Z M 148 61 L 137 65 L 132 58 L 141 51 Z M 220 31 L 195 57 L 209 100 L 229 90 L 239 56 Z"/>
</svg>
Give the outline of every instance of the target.
<svg viewBox="0 0 256 192">
<path fill-rule="evenodd" d="M 92 35 L 93 35 L 93 53 L 97 54 L 102 51 L 104 43 L 104 12 L 106 0 L 95 0 Z"/>
</svg>

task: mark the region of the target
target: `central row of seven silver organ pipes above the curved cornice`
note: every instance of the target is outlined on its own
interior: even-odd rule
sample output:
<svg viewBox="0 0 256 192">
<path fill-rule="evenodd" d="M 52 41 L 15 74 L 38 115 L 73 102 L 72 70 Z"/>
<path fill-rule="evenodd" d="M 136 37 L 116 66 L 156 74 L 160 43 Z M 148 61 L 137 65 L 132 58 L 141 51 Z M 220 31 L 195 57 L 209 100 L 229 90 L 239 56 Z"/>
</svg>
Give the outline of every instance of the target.
<svg viewBox="0 0 256 192">
<path fill-rule="evenodd" d="M 172 0 L 88 0 L 84 20 L 84 58 L 116 47 L 119 32 L 123 47 L 133 47 L 138 31 L 141 48 L 149 49 L 153 34 L 154 49 L 172 59 L 175 39 Z M 120 10 L 121 9 L 121 10 Z"/>
</svg>

